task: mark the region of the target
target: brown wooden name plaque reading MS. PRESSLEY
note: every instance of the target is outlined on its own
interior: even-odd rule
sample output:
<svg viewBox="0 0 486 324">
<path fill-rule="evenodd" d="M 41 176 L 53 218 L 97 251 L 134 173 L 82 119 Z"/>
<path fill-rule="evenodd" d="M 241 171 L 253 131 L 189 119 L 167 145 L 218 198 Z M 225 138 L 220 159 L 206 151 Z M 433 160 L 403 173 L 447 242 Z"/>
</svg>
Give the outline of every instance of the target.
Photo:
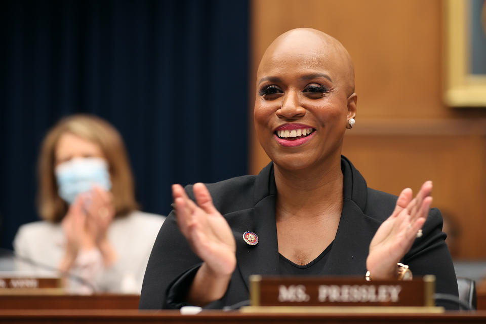
<svg viewBox="0 0 486 324">
<path fill-rule="evenodd" d="M 361 277 L 250 277 L 252 306 L 427 306 L 435 276 L 409 281 Z"/>
</svg>

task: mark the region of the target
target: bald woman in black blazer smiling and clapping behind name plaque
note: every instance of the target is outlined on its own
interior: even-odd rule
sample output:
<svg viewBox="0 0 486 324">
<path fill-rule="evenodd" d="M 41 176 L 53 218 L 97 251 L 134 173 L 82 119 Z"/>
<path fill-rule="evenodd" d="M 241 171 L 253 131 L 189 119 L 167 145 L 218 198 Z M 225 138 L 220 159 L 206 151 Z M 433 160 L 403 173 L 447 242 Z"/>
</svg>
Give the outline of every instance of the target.
<svg viewBox="0 0 486 324">
<path fill-rule="evenodd" d="M 396 197 L 368 188 L 341 155 L 357 104 L 341 43 L 308 28 L 280 35 L 256 89 L 255 131 L 271 163 L 258 176 L 173 186 L 140 308 L 233 305 L 249 298 L 252 274 L 399 279 L 397 262 L 457 296 L 432 183 Z"/>
</svg>

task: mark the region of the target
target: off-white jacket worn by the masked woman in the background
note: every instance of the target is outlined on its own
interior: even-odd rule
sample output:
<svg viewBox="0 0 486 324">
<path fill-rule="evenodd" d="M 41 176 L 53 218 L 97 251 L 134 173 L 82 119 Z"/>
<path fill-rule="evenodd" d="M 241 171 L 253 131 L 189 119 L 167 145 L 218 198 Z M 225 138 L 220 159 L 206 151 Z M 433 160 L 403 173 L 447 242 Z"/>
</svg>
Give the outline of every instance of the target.
<svg viewBox="0 0 486 324">
<path fill-rule="evenodd" d="M 106 268 L 98 250 L 79 253 L 69 271 L 79 280 L 67 280 L 71 293 L 96 292 L 140 294 L 153 242 L 165 217 L 134 211 L 115 218 L 108 228 L 108 239 L 117 253 L 115 264 Z M 65 252 L 61 224 L 38 221 L 22 225 L 15 236 L 14 250 L 20 257 L 57 268 Z M 45 272 L 42 266 L 16 262 L 18 270 Z"/>
</svg>

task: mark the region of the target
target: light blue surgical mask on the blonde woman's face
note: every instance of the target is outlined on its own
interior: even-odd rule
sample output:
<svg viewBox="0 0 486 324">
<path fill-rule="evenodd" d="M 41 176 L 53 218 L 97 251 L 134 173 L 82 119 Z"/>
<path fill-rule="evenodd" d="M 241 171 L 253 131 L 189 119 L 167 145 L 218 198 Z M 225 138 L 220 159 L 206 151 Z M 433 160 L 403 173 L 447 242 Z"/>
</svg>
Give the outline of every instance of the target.
<svg viewBox="0 0 486 324">
<path fill-rule="evenodd" d="M 59 196 L 69 205 L 80 193 L 90 191 L 95 185 L 111 189 L 110 173 L 106 160 L 100 157 L 75 157 L 56 167 Z"/>
</svg>

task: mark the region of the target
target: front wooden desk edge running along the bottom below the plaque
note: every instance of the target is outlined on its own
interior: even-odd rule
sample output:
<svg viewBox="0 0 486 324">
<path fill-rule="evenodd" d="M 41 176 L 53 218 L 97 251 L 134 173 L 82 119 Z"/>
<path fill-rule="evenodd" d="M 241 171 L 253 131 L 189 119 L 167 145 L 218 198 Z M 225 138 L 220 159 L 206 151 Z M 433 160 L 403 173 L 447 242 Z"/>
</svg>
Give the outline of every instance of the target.
<svg viewBox="0 0 486 324">
<path fill-rule="evenodd" d="M 0 322 L 8 323 L 164 323 L 164 324 L 267 324 L 267 323 L 400 323 L 449 324 L 485 323 L 486 311 L 446 314 L 242 314 L 207 311 L 198 315 L 180 315 L 178 311 L 137 310 L 0 310 Z"/>
</svg>

